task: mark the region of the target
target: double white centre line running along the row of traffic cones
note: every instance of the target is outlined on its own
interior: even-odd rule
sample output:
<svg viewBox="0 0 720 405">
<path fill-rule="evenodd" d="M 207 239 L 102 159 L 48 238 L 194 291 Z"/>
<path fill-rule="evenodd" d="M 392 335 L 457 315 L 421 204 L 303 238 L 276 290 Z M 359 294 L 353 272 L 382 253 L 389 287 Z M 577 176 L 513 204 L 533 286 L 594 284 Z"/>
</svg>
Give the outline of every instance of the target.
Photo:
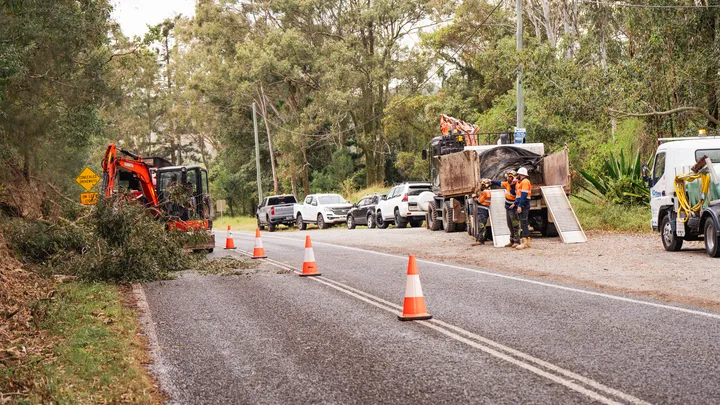
<svg viewBox="0 0 720 405">
<path fill-rule="evenodd" d="M 242 254 L 244 256 L 252 257 L 252 254 L 250 254 L 250 252 L 238 250 L 238 251 L 236 251 L 236 253 Z M 292 270 L 296 274 L 301 273 L 298 269 L 296 269 L 290 265 L 287 265 L 285 263 L 278 262 L 276 260 L 263 259 L 263 261 L 266 261 L 269 264 L 279 267 L 281 269 Z M 334 289 L 341 291 L 345 294 L 348 294 L 354 298 L 357 298 L 363 302 L 371 304 L 371 305 L 373 305 L 377 308 L 380 308 L 384 311 L 390 312 L 394 315 L 398 315 L 398 313 L 399 313 L 398 311 L 402 310 L 402 307 L 397 304 L 386 301 L 380 297 L 376 297 L 372 294 L 369 294 L 364 291 L 358 290 L 356 288 L 350 287 L 339 281 L 335 281 L 335 280 L 329 279 L 327 277 L 312 277 L 311 280 L 316 281 L 321 284 L 324 284 L 328 287 L 334 288 Z M 577 391 L 583 395 L 586 395 L 587 397 L 592 398 L 593 400 L 596 400 L 596 401 L 599 401 L 599 402 L 602 402 L 605 404 L 621 404 L 621 402 L 617 402 L 617 401 L 613 400 L 612 398 L 602 396 L 595 391 L 589 390 L 579 384 L 576 384 L 572 380 L 576 380 L 580 383 L 583 383 L 589 387 L 594 388 L 597 391 L 604 392 L 605 394 L 609 394 L 614 397 L 621 398 L 622 400 L 624 400 L 630 404 L 649 405 L 648 402 L 643 401 L 640 398 L 626 394 L 626 393 L 616 390 L 614 388 L 605 386 L 605 385 L 603 385 L 595 380 L 592 380 L 588 377 L 585 377 L 580 374 L 574 373 L 572 371 L 563 369 L 552 363 L 538 359 L 536 357 L 533 357 L 529 354 L 523 353 L 523 352 L 513 349 L 511 347 L 505 346 L 503 344 L 497 343 L 493 340 L 482 337 L 480 335 L 477 335 L 477 334 L 467 331 L 465 329 L 459 328 L 455 325 L 451 325 L 451 324 L 439 321 L 437 319 L 433 319 L 430 321 L 418 321 L 417 323 L 419 323 L 425 327 L 428 327 L 430 329 L 436 330 L 454 340 L 457 340 L 461 343 L 465 343 L 473 348 L 481 350 L 481 351 L 483 351 L 487 354 L 490 354 L 494 357 L 497 357 L 501 360 L 507 361 L 511 364 L 514 364 L 518 367 L 521 367 L 525 370 L 535 373 L 541 377 L 547 378 L 553 382 L 561 384 L 567 388 L 570 388 L 570 389 Z M 465 336 L 462 336 L 462 335 L 465 335 Z M 471 339 L 474 339 L 474 340 L 471 340 Z M 493 346 L 496 349 L 502 350 L 506 353 L 502 353 L 502 352 L 500 352 L 496 349 L 493 349 L 492 347 L 488 347 L 488 346 Z M 512 356 L 515 356 L 515 357 L 512 357 Z M 519 357 L 520 359 L 518 359 L 516 357 Z M 543 370 L 539 367 L 535 367 L 532 364 L 528 364 L 528 362 L 535 363 L 538 366 L 544 367 L 550 371 L 561 374 L 562 376 L 565 376 L 568 378 L 563 378 L 562 376 L 552 374 L 552 373 L 550 373 L 546 370 Z"/>
</svg>

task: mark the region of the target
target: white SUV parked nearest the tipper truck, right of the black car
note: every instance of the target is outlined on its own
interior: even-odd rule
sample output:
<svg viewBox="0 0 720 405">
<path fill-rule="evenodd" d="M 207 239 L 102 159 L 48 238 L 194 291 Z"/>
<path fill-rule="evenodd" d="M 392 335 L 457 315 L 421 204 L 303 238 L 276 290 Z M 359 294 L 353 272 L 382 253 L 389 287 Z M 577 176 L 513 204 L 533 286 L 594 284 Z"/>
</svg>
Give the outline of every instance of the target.
<svg viewBox="0 0 720 405">
<path fill-rule="evenodd" d="M 430 190 L 430 183 L 403 183 L 390 189 L 376 209 L 378 228 L 385 229 L 393 222 L 398 228 L 405 228 L 408 223 L 412 227 L 422 226 L 425 211 L 417 205 L 418 195 Z"/>
</svg>

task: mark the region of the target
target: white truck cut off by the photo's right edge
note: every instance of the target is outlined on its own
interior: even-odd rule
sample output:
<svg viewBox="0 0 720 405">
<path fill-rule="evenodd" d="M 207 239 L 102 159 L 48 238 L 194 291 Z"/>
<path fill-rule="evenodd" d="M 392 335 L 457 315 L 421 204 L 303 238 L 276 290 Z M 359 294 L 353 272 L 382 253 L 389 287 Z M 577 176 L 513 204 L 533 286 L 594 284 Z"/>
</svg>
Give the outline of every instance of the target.
<svg viewBox="0 0 720 405">
<path fill-rule="evenodd" d="M 711 184 L 707 205 L 684 223 L 678 219 L 679 202 L 675 195 L 675 177 L 691 173 L 690 168 L 703 156 L 717 162 L 713 163 L 715 171 L 720 169 L 720 137 L 662 138 L 658 143 L 653 168 L 644 174 L 650 186 L 653 231 L 660 232 L 665 250 L 678 251 L 685 240 L 705 240 L 707 253 L 720 256 L 720 196 L 713 196 L 717 186 Z M 712 237 L 707 237 L 706 231 Z"/>
</svg>

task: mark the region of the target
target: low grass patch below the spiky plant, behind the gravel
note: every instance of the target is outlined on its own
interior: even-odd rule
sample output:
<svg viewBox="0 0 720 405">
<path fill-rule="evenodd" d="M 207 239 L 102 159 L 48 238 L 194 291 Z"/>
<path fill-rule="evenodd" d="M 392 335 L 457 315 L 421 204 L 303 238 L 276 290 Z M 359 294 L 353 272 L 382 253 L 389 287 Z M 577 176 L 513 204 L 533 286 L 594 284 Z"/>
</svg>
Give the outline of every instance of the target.
<svg viewBox="0 0 720 405">
<path fill-rule="evenodd" d="M 651 233 L 650 207 L 623 206 L 604 201 L 592 203 L 571 198 L 580 224 L 586 231 Z"/>
</svg>

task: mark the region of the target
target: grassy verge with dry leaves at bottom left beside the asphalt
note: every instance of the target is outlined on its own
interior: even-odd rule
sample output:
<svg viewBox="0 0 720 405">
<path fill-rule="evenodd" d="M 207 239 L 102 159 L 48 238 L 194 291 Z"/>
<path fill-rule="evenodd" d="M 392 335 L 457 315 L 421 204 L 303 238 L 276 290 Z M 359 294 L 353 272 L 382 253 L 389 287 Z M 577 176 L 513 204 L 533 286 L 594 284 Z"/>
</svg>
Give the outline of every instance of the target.
<svg viewBox="0 0 720 405">
<path fill-rule="evenodd" d="M 135 314 L 119 287 L 57 286 L 39 322 L 43 349 L 0 367 L 16 404 L 140 403 L 162 400 L 143 363 Z M 7 386 L 6 386 L 7 384 Z"/>
</svg>

